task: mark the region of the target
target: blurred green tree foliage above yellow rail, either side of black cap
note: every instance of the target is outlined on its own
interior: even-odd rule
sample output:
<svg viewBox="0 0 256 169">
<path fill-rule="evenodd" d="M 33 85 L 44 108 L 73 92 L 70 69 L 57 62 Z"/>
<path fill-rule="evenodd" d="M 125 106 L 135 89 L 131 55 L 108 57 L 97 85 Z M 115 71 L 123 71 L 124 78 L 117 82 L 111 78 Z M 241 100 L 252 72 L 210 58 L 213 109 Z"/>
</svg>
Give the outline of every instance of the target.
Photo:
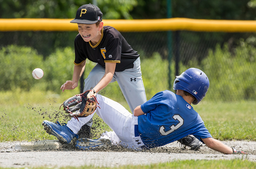
<svg viewBox="0 0 256 169">
<path fill-rule="evenodd" d="M 0 18 L 74 18 L 91 0 L 0 0 Z M 104 19 L 131 19 L 136 0 L 98 1 Z"/>
</svg>

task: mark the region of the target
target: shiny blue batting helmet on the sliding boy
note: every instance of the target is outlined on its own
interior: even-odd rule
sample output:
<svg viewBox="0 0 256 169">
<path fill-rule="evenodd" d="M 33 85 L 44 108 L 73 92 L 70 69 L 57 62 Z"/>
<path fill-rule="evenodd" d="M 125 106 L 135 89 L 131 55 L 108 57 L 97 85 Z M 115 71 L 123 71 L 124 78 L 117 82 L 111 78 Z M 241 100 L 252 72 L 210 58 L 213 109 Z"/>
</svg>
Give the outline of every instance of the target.
<svg viewBox="0 0 256 169">
<path fill-rule="evenodd" d="M 206 74 L 196 68 L 189 68 L 177 76 L 173 83 L 174 90 L 184 90 L 195 96 L 196 100 L 192 103 L 198 104 L 208 91 L 210 82 Z"/>
</svg>

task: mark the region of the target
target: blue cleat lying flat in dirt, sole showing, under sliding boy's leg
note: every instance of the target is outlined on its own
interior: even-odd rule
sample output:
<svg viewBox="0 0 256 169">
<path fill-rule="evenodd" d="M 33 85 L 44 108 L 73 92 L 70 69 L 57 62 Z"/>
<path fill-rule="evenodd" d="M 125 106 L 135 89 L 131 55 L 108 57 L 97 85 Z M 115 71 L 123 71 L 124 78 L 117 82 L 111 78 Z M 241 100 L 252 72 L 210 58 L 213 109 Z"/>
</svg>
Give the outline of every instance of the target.
<svg viewBox="0 0 256 169">
<path fill-rule="evenodd" d="M 111 145 L 111 140 L 106 138 L 100 138 L 92 140 L 89 138 L 80 138 L 76 140 L 76 148 L 81 150 L 93 150 L 98 147 L 104 147 Z"/>
</svg>

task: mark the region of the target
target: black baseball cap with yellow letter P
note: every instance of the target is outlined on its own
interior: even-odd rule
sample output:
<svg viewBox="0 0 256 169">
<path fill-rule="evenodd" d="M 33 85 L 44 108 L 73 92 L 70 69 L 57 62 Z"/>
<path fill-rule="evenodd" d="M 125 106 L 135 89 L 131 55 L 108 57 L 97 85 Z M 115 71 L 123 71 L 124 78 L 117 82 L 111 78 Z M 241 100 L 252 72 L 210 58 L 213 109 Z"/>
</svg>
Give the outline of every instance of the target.
<svg viewBox="0 0 256 169">
<path fill-rule="evenodd" d="M 102 21 L 100 8 L 93 4 L 86 4 L 78 8 L 76 18 L 71 20 L 70 23 L 95 24 L 98 21 Z"/>
</svg>

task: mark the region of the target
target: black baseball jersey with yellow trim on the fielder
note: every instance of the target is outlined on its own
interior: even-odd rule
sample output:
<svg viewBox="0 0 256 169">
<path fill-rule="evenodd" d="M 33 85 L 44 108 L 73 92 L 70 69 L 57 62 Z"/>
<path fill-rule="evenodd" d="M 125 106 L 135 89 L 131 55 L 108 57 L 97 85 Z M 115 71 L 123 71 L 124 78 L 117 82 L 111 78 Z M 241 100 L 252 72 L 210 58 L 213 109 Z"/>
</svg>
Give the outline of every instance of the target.
<svg viewBox="0 0 256 169">
<path fill-rule="evenodd" d="M 133 62 L 140 55 L 134 51 L 124 37 L 114 27 L 104 26 L 99 42 L 93 46 L 85 42 L 80 33 L 75 38 L 75 65 L 80 65 L 87 59 L 105 67 L 105 63 L 116 64 L 115 71 L 133 68 Z"/>
</svg>

